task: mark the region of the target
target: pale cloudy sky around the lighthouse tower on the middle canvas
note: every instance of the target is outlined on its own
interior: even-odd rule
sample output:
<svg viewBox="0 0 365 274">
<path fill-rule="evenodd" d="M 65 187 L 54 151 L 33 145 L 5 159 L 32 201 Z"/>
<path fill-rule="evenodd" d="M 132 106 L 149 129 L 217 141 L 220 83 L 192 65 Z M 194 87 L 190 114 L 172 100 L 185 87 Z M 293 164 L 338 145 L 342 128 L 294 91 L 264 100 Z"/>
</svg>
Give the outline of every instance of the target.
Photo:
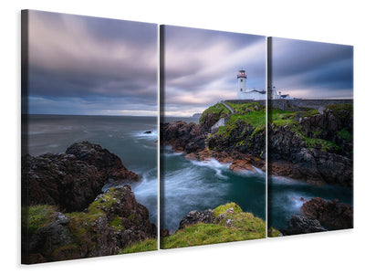
<svg viewBox="0 0 365 274">
<path fill-rule="evenodd" d="M 236 99 L 241 68 L 247 90 L 266 90 L 266 37 L 163 27 L 166 116 L 191 116 L 219 100 Z"/>
</svg>

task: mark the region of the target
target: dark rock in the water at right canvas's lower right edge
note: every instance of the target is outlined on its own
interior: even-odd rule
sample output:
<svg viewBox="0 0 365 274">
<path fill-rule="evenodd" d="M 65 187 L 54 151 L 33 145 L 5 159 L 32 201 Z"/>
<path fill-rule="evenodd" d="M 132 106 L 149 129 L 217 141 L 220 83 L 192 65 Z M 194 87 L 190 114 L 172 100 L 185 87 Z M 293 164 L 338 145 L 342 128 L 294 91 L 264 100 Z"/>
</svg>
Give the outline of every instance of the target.
<svg viewBox="0 0 365 274">
<path fill-rule="evenodd" d="M 353 227 L 353 207 L 339 200 L 326 202 L 321 198 L 313 198 L 300 207 L 304 216 L 317 219 L 321 224 L 338 229 Z"/>
</svg>

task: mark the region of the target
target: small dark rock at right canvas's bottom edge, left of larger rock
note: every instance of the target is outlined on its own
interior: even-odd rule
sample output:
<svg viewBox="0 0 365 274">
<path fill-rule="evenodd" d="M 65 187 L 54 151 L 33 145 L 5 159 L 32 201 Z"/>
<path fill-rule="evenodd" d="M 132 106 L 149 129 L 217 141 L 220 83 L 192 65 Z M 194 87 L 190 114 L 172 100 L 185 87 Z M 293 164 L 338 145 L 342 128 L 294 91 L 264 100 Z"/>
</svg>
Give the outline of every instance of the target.
<svg viewBox="0 0 365 274">
<path fill-rule="evenodd" d="M 327 231 L 318 220 L 293 215 L 287 221 L 287 228 L 280 229 L 284 236 Z"/>
</svg>

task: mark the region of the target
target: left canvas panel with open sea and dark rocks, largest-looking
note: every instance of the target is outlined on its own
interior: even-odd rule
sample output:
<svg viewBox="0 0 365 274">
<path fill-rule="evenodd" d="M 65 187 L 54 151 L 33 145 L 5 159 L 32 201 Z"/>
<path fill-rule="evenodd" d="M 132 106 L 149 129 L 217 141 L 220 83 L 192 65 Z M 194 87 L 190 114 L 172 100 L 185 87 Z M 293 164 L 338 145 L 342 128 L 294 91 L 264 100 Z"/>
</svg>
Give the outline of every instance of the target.
<svg viewBox="0 0 365 274">
<path fill-rule="evenodd" d="M 22 262 L 157 249 L 157 26 L 22 12 Z"/>
</svg>

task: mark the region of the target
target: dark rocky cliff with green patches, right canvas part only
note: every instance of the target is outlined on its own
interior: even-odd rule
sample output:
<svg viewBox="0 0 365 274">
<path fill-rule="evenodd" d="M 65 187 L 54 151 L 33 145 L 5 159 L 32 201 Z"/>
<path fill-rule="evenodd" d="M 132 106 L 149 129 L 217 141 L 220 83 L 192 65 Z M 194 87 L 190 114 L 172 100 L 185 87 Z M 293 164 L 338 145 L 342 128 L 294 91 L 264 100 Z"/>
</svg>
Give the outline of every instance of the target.
<svg viewBox="0 0 365 274">
<path fill-rule="evenodd" d="M 268 173 L 308 184 L 352 186 L 352 105 L 277 111 L 268 117 Z M 278 118 L 280 117 L 281 118 Z"/>
</svg>

